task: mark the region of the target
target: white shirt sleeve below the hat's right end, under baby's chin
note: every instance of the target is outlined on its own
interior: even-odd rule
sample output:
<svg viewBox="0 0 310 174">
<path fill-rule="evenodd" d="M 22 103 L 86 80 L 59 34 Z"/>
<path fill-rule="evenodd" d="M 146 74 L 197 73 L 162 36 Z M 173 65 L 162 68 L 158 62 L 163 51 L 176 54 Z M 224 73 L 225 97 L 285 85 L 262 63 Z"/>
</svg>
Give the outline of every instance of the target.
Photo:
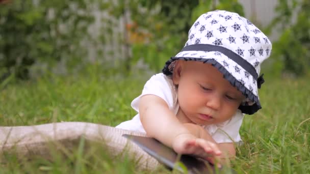
<svg viewBox="0 0 310 174">
<path fill-rule="evenodd" d="M 226 142 L 240 142 L 242 141 L 239 130 L 242 125 L 244 114 L 240 110 L 231 118 L 225 125 L 218 126 L 214 134 L 213 139 L 217 143 Z"/>
</svg>

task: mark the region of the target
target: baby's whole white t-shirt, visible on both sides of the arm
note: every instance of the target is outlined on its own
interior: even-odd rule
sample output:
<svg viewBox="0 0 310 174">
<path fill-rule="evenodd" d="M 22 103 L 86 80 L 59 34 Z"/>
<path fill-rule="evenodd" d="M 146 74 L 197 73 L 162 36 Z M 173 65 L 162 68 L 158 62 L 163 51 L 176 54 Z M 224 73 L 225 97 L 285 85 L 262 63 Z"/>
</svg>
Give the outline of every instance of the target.
<svg viewBox="0 0 310 174">
<path fill-rule="evenodd" d="M 169 109 L 173 111 L 174 114 L 177 113 L 179 105 L 177 102 L 176 89 L 173 85 L 170 76 L 166 76 L 163 73 L 153 75 L 144 85 L 142 94 L 132 101 L 132 107 L 138 112 L 137 115 L 132 120 L 122 122 L 116 128 L 143 132 L 145 130 L 142 126 L 139 116 L 139 101 L 144 95 L 156 95 L 167 102 Z M 209 132 L 213 139 L 217 143 L 224 142 L 240 142 L 242 141 L 239 129 L 243 121 L 244 114 L 238 109 L 236 114 L 229 119 L 220 124 L 204 126 L 204 129 Z"/>
</svg>

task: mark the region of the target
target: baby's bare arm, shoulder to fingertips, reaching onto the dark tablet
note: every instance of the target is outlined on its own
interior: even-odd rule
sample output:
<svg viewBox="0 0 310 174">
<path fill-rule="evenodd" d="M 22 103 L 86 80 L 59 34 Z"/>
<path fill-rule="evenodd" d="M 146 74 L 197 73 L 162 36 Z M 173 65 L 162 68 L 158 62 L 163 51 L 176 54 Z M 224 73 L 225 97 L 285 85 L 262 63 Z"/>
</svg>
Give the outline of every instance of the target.
<svg viewBox="0 0 310 174">
<path fill-rule="evenodd" d="M 201 138 L 199 131 L 180 123 L 160 97 L 142 96 L 139 114 L 147 135 L 158 139 L 177 153 L 193 154 L 202 158 L 221 155 L 216 143 Z"/>
</svg>

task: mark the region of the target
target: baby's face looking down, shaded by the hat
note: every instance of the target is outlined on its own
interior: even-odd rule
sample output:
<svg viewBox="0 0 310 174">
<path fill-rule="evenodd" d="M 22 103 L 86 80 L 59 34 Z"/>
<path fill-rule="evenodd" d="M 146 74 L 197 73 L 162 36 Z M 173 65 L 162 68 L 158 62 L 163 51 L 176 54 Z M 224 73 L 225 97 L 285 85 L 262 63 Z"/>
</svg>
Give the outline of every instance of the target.
<svg viewBox="0 0 310 174">
<path fill-rule="evenodd" d="M 181 122 L 210 125 L 229 120 L 244 96 L 210 64 L 178 61 L 173 70 Z"/>
</svg>

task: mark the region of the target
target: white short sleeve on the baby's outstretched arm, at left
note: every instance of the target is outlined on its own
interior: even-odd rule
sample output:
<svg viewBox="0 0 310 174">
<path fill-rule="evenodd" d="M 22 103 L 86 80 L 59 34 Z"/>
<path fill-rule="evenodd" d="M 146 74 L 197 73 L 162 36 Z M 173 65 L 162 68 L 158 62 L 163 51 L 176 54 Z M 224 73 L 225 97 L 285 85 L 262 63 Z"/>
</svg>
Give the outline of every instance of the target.
<svg viewBox="0 0 310 174">
<path fill-rule="evenodd" d="M 171 79 L 163 73 L 155 74 L 145 83 L 142 94 L 132 101 L 131 106 L 139 112 L 141 97 L 151 94 L 162 98 L 168 104 L 169 109 L 172 109 L 174 106 L 172 88 Z"/>
</svg>

